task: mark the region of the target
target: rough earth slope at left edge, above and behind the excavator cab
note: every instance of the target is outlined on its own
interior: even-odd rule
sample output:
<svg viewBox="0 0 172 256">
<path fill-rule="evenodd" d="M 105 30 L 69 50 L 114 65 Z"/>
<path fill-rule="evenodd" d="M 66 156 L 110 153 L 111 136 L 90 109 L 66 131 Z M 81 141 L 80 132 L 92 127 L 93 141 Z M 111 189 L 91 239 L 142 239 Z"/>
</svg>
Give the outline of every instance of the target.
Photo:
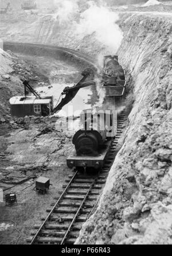
<svg viewBox="0 0 172 256">
<path fill-rule="evenodd" d="M 24 77 L 33 79 L 38 75 L 44 77 L 36 66 L 18 58 L 12 52 L 0 49 L 0 119 L 9 114 L 9 99 L 12 96 L 23 94 L 22 80 Z"/>
</svg>

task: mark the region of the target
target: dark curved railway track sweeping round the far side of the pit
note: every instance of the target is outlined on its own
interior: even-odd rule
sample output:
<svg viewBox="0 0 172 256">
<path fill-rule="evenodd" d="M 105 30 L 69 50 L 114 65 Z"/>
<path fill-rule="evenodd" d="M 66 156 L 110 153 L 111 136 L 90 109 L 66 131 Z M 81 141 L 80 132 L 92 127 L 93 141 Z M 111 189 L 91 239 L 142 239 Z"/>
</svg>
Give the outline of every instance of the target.
<svg viewBox="0 0 172 256">
<path fill-rule="evenodd" d="M 61 52 L 69 53 L 70 55 L 75 56 L 77 59 L 83 60 L 83 61 L 87 62 L 88 64 L 91 64 L 96 69 L 100 68 L 97 65 L 96 58 L 91 57 L 85 53 L 76 51 L 74 49 L 65 48 L 65 47 L 61 47 L 61 46 L 5 41 L 5 42 L 3 42 L 3 47 L 4 47 L 5 51 L 8 49 L 11 49 L 11 47 L 15 47 L 18 49 L 19 49 L 19 47 L 33 47 L 35 49 L 37 48 L 37 49 L 49 49 L 49 50 L 54 50 L 54 51 L 61 51 Z"/>
</svg>

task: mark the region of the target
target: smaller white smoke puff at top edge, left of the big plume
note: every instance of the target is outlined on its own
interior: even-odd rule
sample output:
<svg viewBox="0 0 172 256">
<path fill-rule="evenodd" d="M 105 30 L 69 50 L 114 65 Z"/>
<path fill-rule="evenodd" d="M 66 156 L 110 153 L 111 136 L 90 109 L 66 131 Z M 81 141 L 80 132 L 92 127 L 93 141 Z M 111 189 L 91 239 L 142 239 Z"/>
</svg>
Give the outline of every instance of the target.
<svg viewBox="0 0 172 256">
<path fill-rule="evenodd" d="M 53 0 L 56 7 L 56 13 L 54 18 L 59 21 L 60 24 L 72 20 L 73 15 L 79 10 L 78 0 Z"/>
</svg>

